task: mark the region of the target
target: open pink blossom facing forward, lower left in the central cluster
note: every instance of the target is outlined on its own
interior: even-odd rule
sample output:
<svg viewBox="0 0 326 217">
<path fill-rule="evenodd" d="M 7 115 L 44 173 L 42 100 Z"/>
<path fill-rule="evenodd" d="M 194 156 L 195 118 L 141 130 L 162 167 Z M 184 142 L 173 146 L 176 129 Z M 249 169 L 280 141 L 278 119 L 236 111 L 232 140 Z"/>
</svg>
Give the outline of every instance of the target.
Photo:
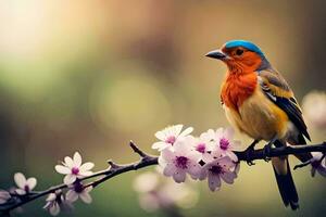
<svg viewBox="0 0 326 217">
<path fill-rule="evenodd" d="M 159 157 L 159 164 L 164 168 L 163 174 L 173 177 L 178 183 L 186 180 L 186 174 L 193 179 L 200 176 L 199 161 L 200 153 L 185 142 L 176 142 L 174 149 L 165 149 Z"/>
</svg>

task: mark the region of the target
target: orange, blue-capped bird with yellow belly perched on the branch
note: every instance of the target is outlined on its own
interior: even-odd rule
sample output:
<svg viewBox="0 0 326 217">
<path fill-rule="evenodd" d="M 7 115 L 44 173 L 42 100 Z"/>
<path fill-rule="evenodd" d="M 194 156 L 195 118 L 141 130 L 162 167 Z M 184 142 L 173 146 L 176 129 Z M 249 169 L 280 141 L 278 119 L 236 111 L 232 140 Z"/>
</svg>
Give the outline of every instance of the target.
<svg viewBox="0 0 326 217">
<path fill-rule="evenodd" d="M 253 139 L 247 150 L 253 151 L 260 141 L 268 142 L 264 148 L 268 151 L 273 145 L 306 144 L 305 139 L 311 140 L 293 91 L 256 44 L 231 40 L 206 56 L 222 61 L 228 68 L 221 86 L 221 103 L 230 125 Z M 297 157 L 306 162 L 312 155 Z M 298 209 L 288 157 L 272 157 L 272 165 L 285 206 Z"/>
</svg>

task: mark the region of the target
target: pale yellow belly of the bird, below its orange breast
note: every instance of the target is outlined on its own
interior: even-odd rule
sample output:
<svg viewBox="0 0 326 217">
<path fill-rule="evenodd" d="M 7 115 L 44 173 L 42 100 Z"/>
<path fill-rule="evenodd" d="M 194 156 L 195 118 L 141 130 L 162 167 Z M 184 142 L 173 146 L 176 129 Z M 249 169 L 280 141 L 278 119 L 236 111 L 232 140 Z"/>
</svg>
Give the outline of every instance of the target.
<svg viewBox="0 0 326 217">
<path fill-rule="evenodd" d="M 289 119 L 287 114 L 267 99 L 260 88 L 248 98 L 239 111 L 224 106 L 230 124 L 256 140 L 271 140 L 287 135 Z"/>
</svg>

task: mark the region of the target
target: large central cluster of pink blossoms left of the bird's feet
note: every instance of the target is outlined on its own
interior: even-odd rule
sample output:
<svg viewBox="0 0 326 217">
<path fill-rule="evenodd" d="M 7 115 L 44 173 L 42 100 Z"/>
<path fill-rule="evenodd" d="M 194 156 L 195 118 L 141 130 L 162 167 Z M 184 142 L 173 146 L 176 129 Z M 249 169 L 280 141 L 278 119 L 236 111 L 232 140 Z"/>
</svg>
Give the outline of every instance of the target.
<svg viewBox="0 0 326 217">
<path fill-rule="evenodd" d="M 222 181 L 234 183 L 239 171 L 235 150 L 240 142 L 233 139 L 231 128 L 208 130 L 193 137 L 192 128 L 183 131 L 183 125 L 167 127 L 155 133 L 160 140 L 152 148 L 160 151 L 159 165 L 163 174 L 176 182 L 185 182 L 187 175 L 195 180 L 208 179 L 212 191 L 218 190 Z"/>
</svg>

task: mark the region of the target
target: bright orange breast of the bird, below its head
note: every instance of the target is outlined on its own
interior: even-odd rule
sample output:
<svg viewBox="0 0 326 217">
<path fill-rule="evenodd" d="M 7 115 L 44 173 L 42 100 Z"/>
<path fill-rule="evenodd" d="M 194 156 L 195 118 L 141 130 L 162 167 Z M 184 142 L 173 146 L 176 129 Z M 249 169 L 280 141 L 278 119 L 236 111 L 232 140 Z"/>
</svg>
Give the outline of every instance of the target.
<svg viewBox="0 0 326 217">
<path fill-rule="evenodd" d="M 241 104 L 254 92 L 258 76 L 252 73 L 228 73 L 222 85 L 221 98 L 224 104 L 238 111 Z"/>
</svg>

